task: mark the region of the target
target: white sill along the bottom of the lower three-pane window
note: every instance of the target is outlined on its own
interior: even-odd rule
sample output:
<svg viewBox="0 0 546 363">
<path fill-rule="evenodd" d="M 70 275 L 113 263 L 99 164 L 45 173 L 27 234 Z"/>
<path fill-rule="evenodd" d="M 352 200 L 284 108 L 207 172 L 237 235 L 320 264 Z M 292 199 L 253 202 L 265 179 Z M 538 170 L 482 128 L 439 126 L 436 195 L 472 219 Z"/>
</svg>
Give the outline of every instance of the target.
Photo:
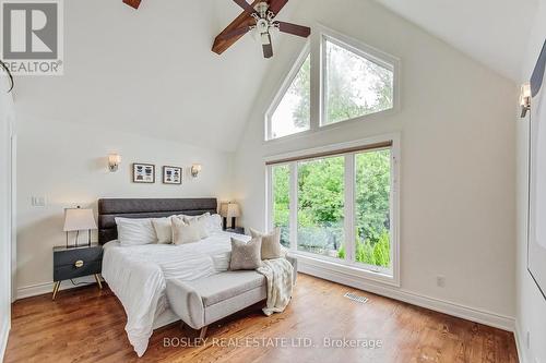
<svg viewBox="0 0 546 363">
<path fill-rule="evenodd" d="M 348 264 L 341 261 L 334 262 L 330 258 L 317 257 L 310 253 L 300 251 L 290 251 L 288 255 L 297 258 L 305 265 L 309 265 L 316 268 L 400 288 L 400 279 L 395 278 L 393 275 L 389 275 L 383 271 L 373 271 L 370 269 L 366 269 L 364 265 L 360 267 L 356 266 L 356 264 Z"/>
</svg>

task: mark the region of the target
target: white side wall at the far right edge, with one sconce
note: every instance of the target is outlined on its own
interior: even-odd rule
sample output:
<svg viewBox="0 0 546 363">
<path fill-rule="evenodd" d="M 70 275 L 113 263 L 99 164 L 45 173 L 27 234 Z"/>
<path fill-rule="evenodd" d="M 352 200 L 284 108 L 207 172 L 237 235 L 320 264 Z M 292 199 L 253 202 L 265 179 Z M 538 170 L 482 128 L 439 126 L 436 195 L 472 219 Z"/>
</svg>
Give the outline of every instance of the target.
<svg viewBox="0 0 546 363">
<path fill-rule="evenodd" d="M 546 1 L 542 1 L 535 14 L 535 27 L 527 45 L 522 70 L 522 83 L 529 82 L 541 49 L 546 39 Z M 544 87 L 544 85 L 543 85 Z M 522 362 L 546 362 L 546 300 L 527 271 L 527 155 L 529 119 L 518 124 L 518 261 L 517 261 L 517 320 Z M 527 341 L 529 334 L 529 341 Z"/>
</svg>

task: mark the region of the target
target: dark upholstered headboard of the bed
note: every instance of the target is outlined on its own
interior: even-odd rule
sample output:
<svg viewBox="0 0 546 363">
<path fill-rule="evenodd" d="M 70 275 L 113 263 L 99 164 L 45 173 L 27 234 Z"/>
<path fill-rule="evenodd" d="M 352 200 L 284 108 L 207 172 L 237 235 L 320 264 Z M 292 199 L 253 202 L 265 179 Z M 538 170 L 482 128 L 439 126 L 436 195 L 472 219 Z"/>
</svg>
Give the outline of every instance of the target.
<svg viewBox="0 0 546 363">
<path fill-rule="evenodd" d="M 199 216 L 217 213 L 215 198 L 185 199 L 98 199 L 98 243 L 118 238 L 116 217 L 162 218 L 174 215 Z"/>
</svg>

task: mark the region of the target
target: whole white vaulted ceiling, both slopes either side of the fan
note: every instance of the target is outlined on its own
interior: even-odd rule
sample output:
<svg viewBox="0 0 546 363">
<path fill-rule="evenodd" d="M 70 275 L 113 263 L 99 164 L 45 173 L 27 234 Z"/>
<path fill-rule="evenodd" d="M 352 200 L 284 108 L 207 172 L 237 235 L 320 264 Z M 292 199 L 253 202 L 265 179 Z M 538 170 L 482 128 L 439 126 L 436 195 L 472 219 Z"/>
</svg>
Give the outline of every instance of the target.
<svg viewBox="0 0 546 363">
<path fill-rule="evenodd" d="M 539 0 L 376 1 L 517 81 Z M 297 22 L 297 8 L 289 1 L 280 19 Z M 121 0 L 64 1 L 64 75 L 19 77 L 17 112 L 232 152 L 275 60 L 250 36 L 221 57 L 211 51 L 239 13 L 230 0 L 144 0 L 138 11 Z"/>
</svg>

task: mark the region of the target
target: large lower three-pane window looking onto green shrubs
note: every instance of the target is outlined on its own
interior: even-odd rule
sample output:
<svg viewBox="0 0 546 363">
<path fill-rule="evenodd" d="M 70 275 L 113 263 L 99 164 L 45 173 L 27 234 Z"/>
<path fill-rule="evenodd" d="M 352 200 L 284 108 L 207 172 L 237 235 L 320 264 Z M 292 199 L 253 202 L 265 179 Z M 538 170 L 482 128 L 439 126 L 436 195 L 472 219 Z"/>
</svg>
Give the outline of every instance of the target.
<svg viewBox="0 0 546 363">
<path fill-rule="evenodd" d="M 293 253 L 394 278 L 392 141 L 270 161 L 270 227 Z M 293 206 L 290 208 L 290 206 Z"/>
</svg>

